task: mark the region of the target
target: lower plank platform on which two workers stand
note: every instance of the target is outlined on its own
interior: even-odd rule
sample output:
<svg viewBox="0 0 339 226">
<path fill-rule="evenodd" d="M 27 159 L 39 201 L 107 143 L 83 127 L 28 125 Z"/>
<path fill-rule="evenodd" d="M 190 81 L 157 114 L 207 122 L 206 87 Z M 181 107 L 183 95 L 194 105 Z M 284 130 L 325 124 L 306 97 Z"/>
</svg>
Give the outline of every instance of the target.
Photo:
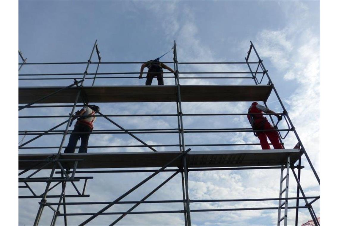
<svg viewBox="0 0 339 226">
<path fill-rule="evenodd" d="M 64 167 L 72 168 L 75 160 L 79 160 L 77 168 L 132 168 L 162 167 L 177 156 L 179 151 L 159 152 L 100 152 L 100 153 L 62 153 L 60 160 Z M 286 163 L 287 156 L 294 164 L 301 155 L 299 149 L 271 150 L 217 150 L 190 151 L 187 154 L 188 167 L 238 167 L 238 166 L 281 166 Z M 19 169 L 38 169 L 37 164 L 45 161 L 51 154 L 19 154 Z M 169 166 L 182 166 L 182 158 L 178 158 Z M 48 164 L 45 169 L 51 169 Z"/>
</svg>

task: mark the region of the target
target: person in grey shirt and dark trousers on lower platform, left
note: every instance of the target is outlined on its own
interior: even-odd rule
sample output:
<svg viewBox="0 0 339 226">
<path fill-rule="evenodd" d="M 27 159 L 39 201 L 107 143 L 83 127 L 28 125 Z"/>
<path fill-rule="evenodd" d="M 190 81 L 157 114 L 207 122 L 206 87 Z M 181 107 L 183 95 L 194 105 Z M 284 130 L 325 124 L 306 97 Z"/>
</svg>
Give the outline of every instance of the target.
<svg viewBox="0 0 339 226">
<path fill-rule="evenodd" d="M 100 108 L 96 105 L 94 105 L 92 109 L 85 106 L 80 111 L 77 111 L 75 116 L 73 116 L 70 125 L 72 125 L 73 120 L 76 118 L 78 118 L 78 120 L 75 123 L 71 136 L 69 137 L 68 145 L 65 148 L 64 153 L 74 153 L 79 139 L 81 139 L 79 153 L 87 153 L 88 138 L 92 133 L 93 123 L 96 120 L 94 115 L 100 111 Z"/>
</svg>

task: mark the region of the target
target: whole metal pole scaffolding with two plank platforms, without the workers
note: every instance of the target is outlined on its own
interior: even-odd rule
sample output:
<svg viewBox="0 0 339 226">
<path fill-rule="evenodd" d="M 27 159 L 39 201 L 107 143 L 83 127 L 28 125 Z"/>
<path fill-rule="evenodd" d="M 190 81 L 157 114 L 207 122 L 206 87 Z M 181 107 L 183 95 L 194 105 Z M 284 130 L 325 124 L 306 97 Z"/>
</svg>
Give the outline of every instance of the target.
<svg viewBox="0 0 339 226">
<path fill-rule="evenodd" d="M 256 60 L 249 61 L 251 53 L 254 51 Z M 98 62 L 92 62 L 92 57 L 96 52 Z M 91 55 L 87 62 L 58 62 L 58 63 L 27 63 L 23 58 L 22 53 L 19 55 L 23 63 L 19 63 L 20 67 L 25 65 L 73 65 L 83 64 L 86 68 L 83 73 L 50 73 L 50 74 L 19 74 L 19 80 L 36 81 L 36 80 L 73 80 L 72 84 L 67 86 L 35 86 L 35 87 L 19 87 L 19 111 L 28 108 L 71 108 L 69 115 L 24 115 L 19 116 L 19 119 L 34 119 L 34 118 L 66 118 L 65 121 L 54 126 L 48 130 L 19 130 L 19 136 L 24 136 L 19 145 L 19 188 L 28 189 L 32 194 L 22 196 L 19 199 L 41 199 L 39 202 L 39 209 L 36 214 L 34 225 L 38 225 L 42 212 L 45 207 L 49 207 L 53 211 L 51 225 L 56 224 L 58 217 L 63 217 L 64 225 L 67 225 L 67 217 L 83 216 L 83 221 L 79 225 L 86 225 L 99 215 L 120 215 L 116 220 L 112 220 L 110 225 L 114 225 L 122 218 L 129 214 L 156 214 L 156 213 L 181 213 L 184 216 L 182 224 L 192 225 L 191 212 L 210 212 L 210 211 L 240 211 L 240 210 L 278 210 L 277 225 L 282 222 L 287 225 L 287 210 L 295 209 L 295 225 L 298 225 L 299 209 L 307 209 L 315 225 L 320 225 L 317 220 L 316 213 L 312 204 L 320 199 L 319 196 L 306 196 L 300 184 L 301 158 L 306 158 L 307 164 L 310 166 L 319 186 L 320 179 L 318 174 L 308 157 L 306 150 L 298 136 L 295 127 L 285 109 L 277 90 L 268 75 L 262 59 L 260 59 L 257 50 L 251 42 L 250 48 L 247 52 L 244 62 L 179 62 L 177 58 L 177 46 L 174 41 L 173 47 L 173 63 L 175 75 L 167 76 L 164 72 L 164 78 L 174 79 L 174 85 L 165 86 L 118 86 L 118 85 L 94 85 L 98 79 L 136 79 L 134 76 L 139 72 L 114 72 L 114 73 L 98 73 L 99 65 L 107 64 L 141 64 L 145 62 L 102 62 L 98 48 L 97 41 L 92 48 Z M 253 55 L 253 54 L 252 54 Z M 88 68 L 91 64 L 96 64 L 95 73 L 88 73 Z M 213 72 L 179 72 L 179 65 L 190 64 L 208 64 L 208 65 L 245 65 L 249 71 L 213 71 Z M 27 67 L 27 66 L 26 66 Z M 255 70 L 253 70 L 255 69 Z M 198 75 L 198 77 L 187 77 L 186 75 Z M 224 75 L 250 75 L 250 76 L 224 76 Z M 199 75 L 207 75 L 201 77 Z M 217 75 L 217 76 L 214 76 Z M 220 76 L 221 75 L 221 76 Z M 57 76 L 57 77 L 51 77 Z M 82 76 L 77 78 L 70 78 L 68 76 Z M 89 77 L 92 76 L 92 77 Z M 253 80 L 254 85 L 181 85 L 181 79 L 240 79 Z M 85 80 L 93 80 L 92 86 L 83 86 Z M 262 84 L 267 80 L 267 84 Z M 272 92 L 273 91 L 273 92 Z M 292 149 L 273 149 L 273 150 L 258 150 L 258 149 L 243 149 L 239 147 L 260 145 L 259 143 L 227 143 L 227 144 L 186 144 L 185 134 L 190 133 L 253 133 L 256 131 L 267 130 L 253 130 L 252 128 L 185 128 L 183 125 L 183 117 L 194 116 L 243 116 L 247 114 L 184 114 L 182 110 L 182 102 L 213 102 L 213 101 L 227 101 L 227 102 L 241 102 L 241 101 L 263 101 L 266 105 L 268 97 L 273 93 L 281 105 L 282 112 L 279 115 L 283 116 L 282 122 L 287 125 L 285 129 L 278 127 L 278 122 L 274 122 L 272 114 L 267 115 L 274 129 L 279 133 L 280 142 L 292 132 L 297 140 L 297 145 Z M 64 141 L 68 134 L 72 133 L 70 124 L 72 116 L 74 115 L 76 107 L 87 106 L 88 103 L 116 103 L 116 102 L 175 102 L 175 114 L 124 114 L 124 115 L 109 115 L 99 112 L 96 117 L 102 117 L 110 123 L 117 126 L 119 129 L 94 129 L 92 134 L 127 134 L 140 142 L 140 145 L 110 145 L 110 146 L 88 146 L 92 148 L 147 148 L 151 151 L 137 151 L 137 152 L 89 152 L 89 153 L 61 153 L 65 148 Z M 72 105 L 67 105 L 72 103 Z M 51 105 L 53 104 L 53 105 Z M 91 105 L 88 105 L 91 106 Z M 103 110 L 103 109 L 102 109 Z M 103 110 L 104 111 L 104 110 Z M 176 117 L 177 128 L 170 129 L 126 129 L 112 120 L 112 117 Z M 65 129 L 57 130 L 62 125 L 66 125 Z M 178 134 L 177 144 L 147 144 L 138 136 L 142 134 Z M 285 133 L 284 135 L 282 133 Z M 42 136 L 48 135 L 62 135 L 59 146 L 26 146 L 27 144 L 37 140 Z M 32 139 L 23 142 L 25 136 L 35 136 Z M 177 151 L 158 151 L 160 147 L 178 148 Z M 197 147 L 233 147 L 234 150 L 194 150 Z M 25 150 L 33 149 L 57 149 L 56 153 L 22 153 Z M 192 149 L 192 151 L 191 151 Z M 157 169 L 142 169 L 148 167 L 155 167 Z M 98 170 L 98 169 L 106 170 Z M 114 169 L 114 168 L 139 168 L 139 169 Z M 86 170 L 79 170 L 86 169 Z M 107 170 L 109 169 L 109 170 Z M 279 198 L 262 198 L 262 199 L 218 199 L 218 200 L 192 200 L 189 198 L 189 184 L 188 173 L 194 171 L 213 171 L 213 170 L 254 170 L 254 169 L 281 169 L 280 174 L 280 192 Z M 40 171 L 50 170 L 49 177 L 34 177 Z M 294 179 L 297 183 L 296 197 L 289 197 L 289 174 L 292 171 Z M 93 176 L 80 177 L 79 174 L 96 174 L 96 173 L 135 173 L 135 172 L 150 172 L 150 176 L 142 180 L 140 183 L 127 190 L 119 198 L 114 201 L 107 202 L 66 202 L 68 198 L 86 198 L 87 180 L 94 179 Z M 139 201 L 121 201 L 128 194 L 151 180 L 160 172 L 172 172 L 164 182 L 157 186 L 154 190 L 149 192 Z M 59 175 L 60 174 L 60 175 Z M 156 200 L 147 201 L 158 189 L 164 184 L 174 178 L 177 174 L 181 174 L 182 199 L 181 200 Z M 81 189 L 74 182 L 83 181 L 82 192 Z M 67 183 L 68 182 L 68 183 Z M 44 192 L 37 195 L 28 183 L 46 183 Z M 71 184 L 77 194 L 66 194 L 66 183 Z M 60 185 L 60 186 L 59 186 Z M 49 192 L 57 187 L 61 188 L 59 195 L 51 195 Z M 300 196 L 301 193 L 301 196 Z M 58 202 L 48 202 L 47 199 L 57 198 Z M 295 200 L 295 206 L 289 206 L 288 201 Z M 304 206 L 299 205 L 299 200 L 305 202 Z M 226 209 L 191 209 L 191 203 L 209 203 L 209 202 L 263 202 L 263 201 L 277 201 L 279 204 L 273 207 L 252 207 L 252 208 L 226 208 Z M 124 212 L 107 212 L 106 210 L 115 204 L 134 204 L 131 208 Z M 140 204 L 145 203 L 182 203 L 183 209 L 180 210 L 163 210 L 163 211 L 133 211 Z M 67 205 L 105 205 L 96 212 L 81 212 L 68 213 L 66 212 Z M 56 208 L 55 208 L 56 206 Z M 62 208 L 62 211 L 61 211 Z"/>
</svg>

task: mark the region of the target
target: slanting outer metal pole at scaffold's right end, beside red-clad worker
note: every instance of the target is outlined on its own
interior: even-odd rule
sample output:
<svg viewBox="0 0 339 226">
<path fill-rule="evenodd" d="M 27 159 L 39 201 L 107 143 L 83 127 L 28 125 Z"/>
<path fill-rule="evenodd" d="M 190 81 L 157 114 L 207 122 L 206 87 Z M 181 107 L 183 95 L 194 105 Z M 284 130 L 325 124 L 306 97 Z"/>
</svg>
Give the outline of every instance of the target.
<svg viewBox="0 0 339 226">
<path fill-rule="evenodd" d="M 255 49 L 255 47 L 254 47 L 252 41 L 251 41 L 251 45 L 252 45 L 253 50 L 254 50 L 254 52 L 256 53 L 256 55 L 257 55 L 259 61 L 261 61 L 261 62 L 260 62 L 260 65 L 262 66 L 263 70 L 266 71 L 266 76 L 267 76 L 267 78 L 268 78 L 268 81 L 270 81 L 270 83 L 271 83 L 271 85 L 272 85 L 272 88 L 273 88 L 273 90 L 274 90 L 274 93 L 276 94 L 276 96 L 277 96 L 277 98 L 278 98 L 278 101 L 279 101 L 279 103 L 280 103 L 280 105 L 281 105 L 281 107 L 282 107 L 282 109 L 283 109 L 283 112 L 284 112 L 284 114 L 285 114 L 285 116 L 286 116 L 288 122 L 290 123 L 291 128 L 292 128 L 292 130 L 293 130 L 293 132 L 294 132 L 294 134 L 295 134 L 295 136 L 296 136 L 296 138 L 297 138 L 297 140 L 298 140 L 298 142 L 299 142 L 299 144 L 300 144 L 300 146 L 301 146 L 301 149 L 302 149 L 302 151 L 303 151 L 303 154 L 305 155 L 308 164 L 310 164 L 310 167 L 311 167 L 311 169 L 312 169 L 312 171 L 313 171 L 313 173 L 314 173 L 314 176 L 316 177 L 316 179 L 317 179 L 317 181 L 318 181 L 318 184 L 320 185 L 320 178 L 319 178 L 319 176 L 318 176 L 318 173 L 316 172 L 316 170 L 315 170 L 315 168 L 314 168 L 314 166 L 313 166 L 313 164 L 312 164 L 312 162 L 311 162 L 311 159 L 308 157 L 308 155 L 307 155 L 307 153 L 306 153 L 306 150 L 305 150 L 305 148 L 304 148 L 304 145 L 302 144 L 302 142 L 301 142 L 301 140 L 300 140 L 300 138 L 299 138 L 299 136 L 298 136 L 298 133 L 297 133 L 297 131 L 296 131 L 296 129 L 295 129 L 295 127 L 294 127 L 294 125 L 293 125 L 291 119 L 290 119 L 290 116 L 288 116 L 287 110 L 286 110 L 285 106 L 283 105 L 283 103 L 282 103 L 282 101 L 281 101 L 281 99 L 280 99 L 280 97 L 279 97 L 279 95 L 278 95 L 278 92 L 277 92 L 276 88 L 274 87 L 274 84 L 273 84 L 273 82 L 272 82 L 270 76 L 268 75 L 267 70 L 266 70 L 264 64 L 262 63 L 262 60 L 260 59 L 259 54 L 258 54 L 257 50 Z"/>
</svg>

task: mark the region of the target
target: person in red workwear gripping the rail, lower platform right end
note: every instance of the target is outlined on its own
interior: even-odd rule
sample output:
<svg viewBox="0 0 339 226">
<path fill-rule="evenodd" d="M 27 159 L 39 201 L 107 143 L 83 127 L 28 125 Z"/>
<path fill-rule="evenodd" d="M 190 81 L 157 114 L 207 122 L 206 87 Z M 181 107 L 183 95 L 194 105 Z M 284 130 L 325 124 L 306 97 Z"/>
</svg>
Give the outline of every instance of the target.
<svg viewBox="0 0 339 226">
<path fill-rule="evenodd" d="M 258 104 L 257 102 L 253 102 L 250 108 L 248 108 L 247 118 L 248 118 L 248 121 L 250 121 L 250 124 L 254 130 L 272 129 L 272 131 L 256 132 L 260 140 L 261 148 L 271 149 L 270 145 L 267 142 L 267 137 L 268 137 L 274 149 L 283 149 L 279 141 L 278 132 L 274 130 L 273 126 L 267 121 L 266 117 L 262 115 L 262 112 L 265 112 L 268 114 L 274 114 L 278 118 L 279 121 L 282 119 L 280 115 L 276 114 L 274 111 L 268 109 L 267 107 Z"/>
</svg>

